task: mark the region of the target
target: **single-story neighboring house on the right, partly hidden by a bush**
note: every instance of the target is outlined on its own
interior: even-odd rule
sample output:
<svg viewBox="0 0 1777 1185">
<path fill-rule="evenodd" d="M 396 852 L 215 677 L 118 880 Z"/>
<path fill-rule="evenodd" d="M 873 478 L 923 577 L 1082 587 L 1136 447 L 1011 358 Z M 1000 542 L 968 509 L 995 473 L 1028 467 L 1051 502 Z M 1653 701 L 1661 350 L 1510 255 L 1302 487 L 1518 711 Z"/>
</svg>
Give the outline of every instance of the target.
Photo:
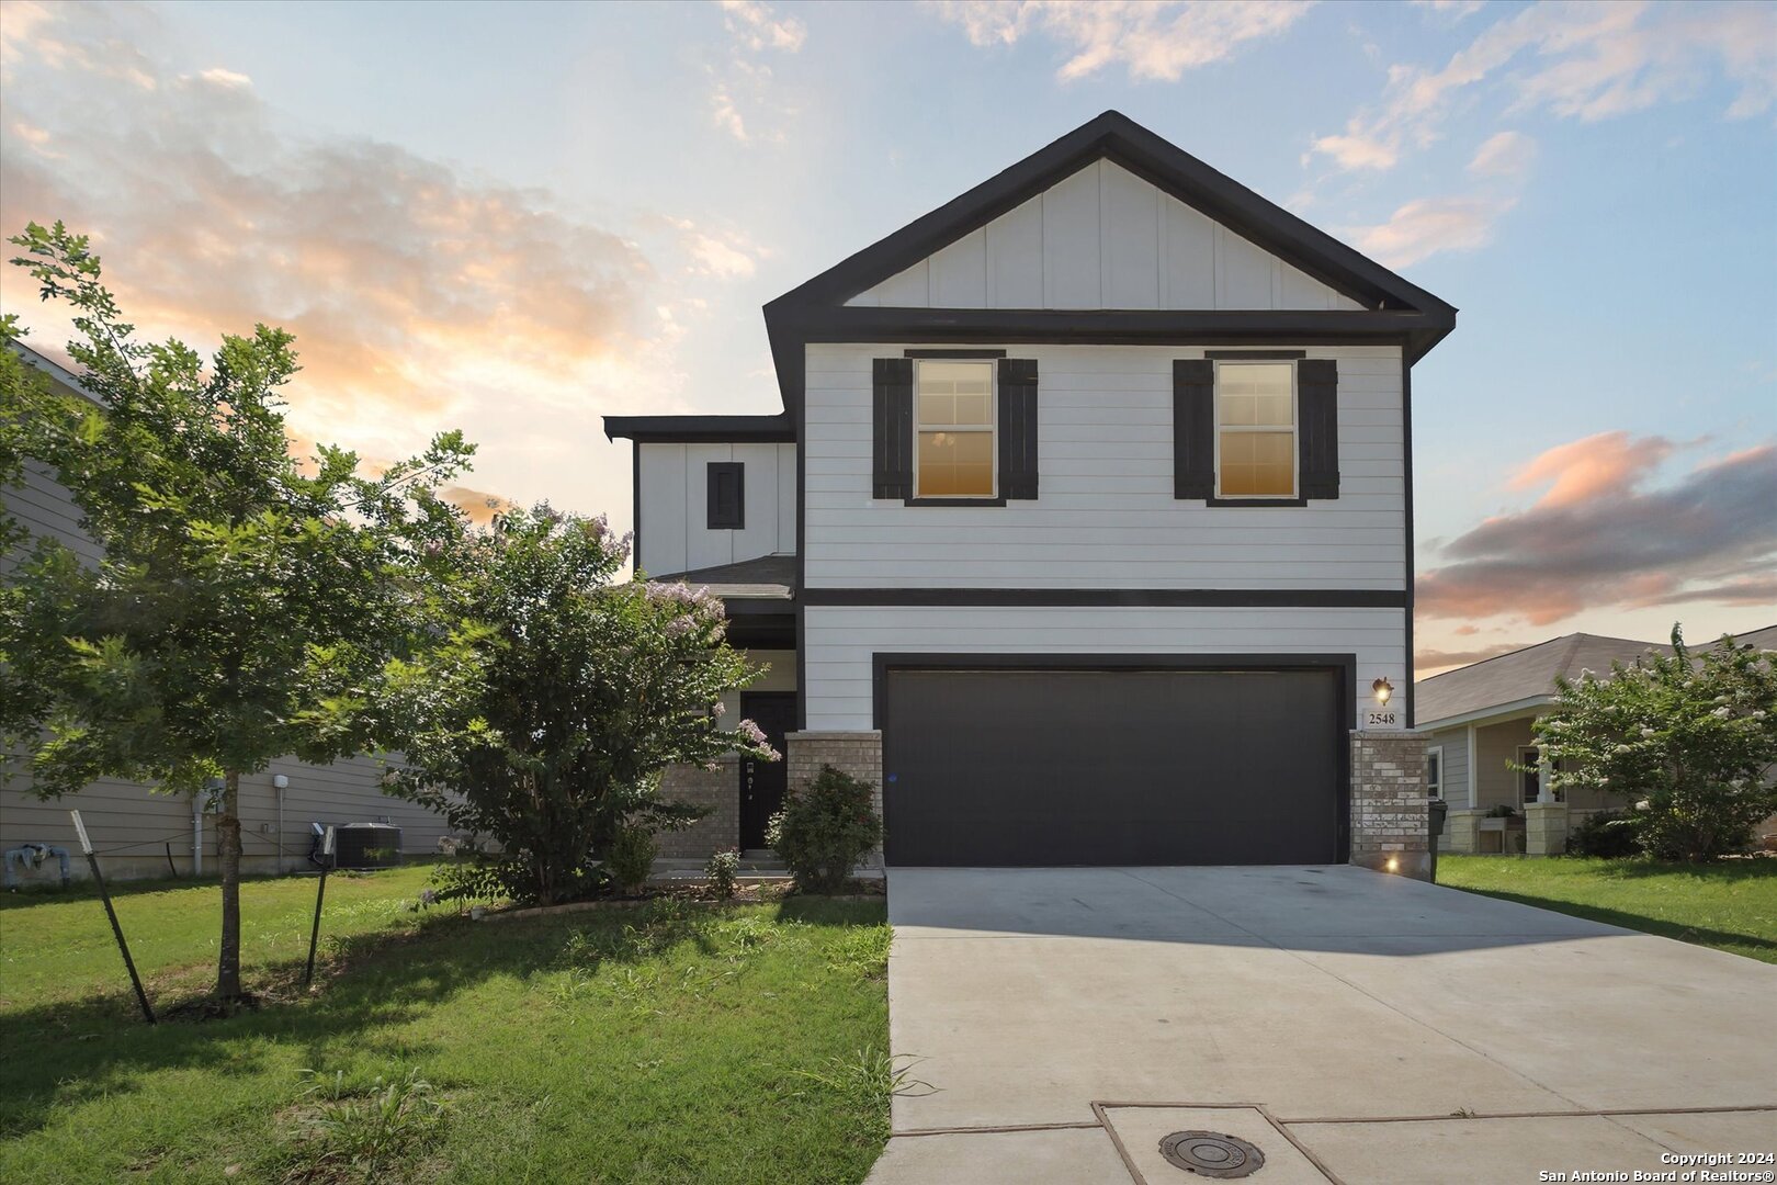
<svg viewBox="0 0 1777 1185">
<path fill-rule="evenodd" d="M 1736 641 L 1777 650 L 1777 625 Z M 1621 810 L 1621 798 L 1603 791 L 1557 787 L 1530 725 L 1555 704 L 1557 679 L 1608 675 L 1612 663 L 1628 666 L 1651 654 L 1672 654 L 1672 647 L 1566 634 L 1420 680 L 1414 705 L 1425 782 L 1448 807 L 1439 851 L 1557 855 L 1585 815 Z"/>
</svg>

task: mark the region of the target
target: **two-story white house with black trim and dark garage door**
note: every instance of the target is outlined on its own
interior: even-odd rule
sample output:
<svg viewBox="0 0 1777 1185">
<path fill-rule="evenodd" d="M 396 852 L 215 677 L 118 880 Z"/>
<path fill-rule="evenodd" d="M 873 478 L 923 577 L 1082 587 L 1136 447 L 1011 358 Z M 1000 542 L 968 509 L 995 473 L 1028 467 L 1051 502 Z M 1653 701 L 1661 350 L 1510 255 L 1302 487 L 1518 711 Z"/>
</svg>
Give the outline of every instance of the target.
<svg viewBox="0 0 1777 1185">
<path fill-rule="evenodd" d="M 1107 112 L 766 306 L 784 412 L 613 416 L 636 558 L 892 865 L 1420 871 L 1411 368 L 1455 309 Z M 1379 702 L 1381 691 L 1395 691 Z"/>
</svg>

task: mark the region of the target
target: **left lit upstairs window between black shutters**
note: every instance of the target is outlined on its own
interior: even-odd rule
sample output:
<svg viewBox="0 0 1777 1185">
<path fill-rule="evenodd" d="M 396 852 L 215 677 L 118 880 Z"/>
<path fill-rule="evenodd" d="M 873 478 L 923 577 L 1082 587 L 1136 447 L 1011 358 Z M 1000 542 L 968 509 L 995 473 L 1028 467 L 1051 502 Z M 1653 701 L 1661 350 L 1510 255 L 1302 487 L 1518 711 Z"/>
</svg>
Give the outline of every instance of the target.
<svg viewBox="0 0 1777 1185">
<path fill-rule="evenodd" d="M 993 368 L 992 361 L 919 361 L 913 497 L 993 497 Z"/>
</svg>

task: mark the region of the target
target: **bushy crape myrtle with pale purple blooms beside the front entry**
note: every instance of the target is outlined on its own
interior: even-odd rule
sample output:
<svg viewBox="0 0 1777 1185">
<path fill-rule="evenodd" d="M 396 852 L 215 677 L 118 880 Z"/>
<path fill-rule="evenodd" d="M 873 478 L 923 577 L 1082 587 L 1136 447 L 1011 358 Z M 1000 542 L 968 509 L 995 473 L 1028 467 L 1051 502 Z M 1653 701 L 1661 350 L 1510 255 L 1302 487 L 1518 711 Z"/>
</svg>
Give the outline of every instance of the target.
<svg viewBox="0 0 1777 1185">
<path fill-rule="evenodd" d="M 627 558 L 604 519 L 498 515 L 450 544 L 453 645 L 389 670 L 405 757 L 389 792 L 492 837 L 521 899 L 586 895 L 624 828 L 695 821 L 657 798 L 666 764 L 777 757 L 753 721 L 721 721 L 721 696 L 759 675 L 723 641 L 721 600 L 618 583 Z"/>
</svg>

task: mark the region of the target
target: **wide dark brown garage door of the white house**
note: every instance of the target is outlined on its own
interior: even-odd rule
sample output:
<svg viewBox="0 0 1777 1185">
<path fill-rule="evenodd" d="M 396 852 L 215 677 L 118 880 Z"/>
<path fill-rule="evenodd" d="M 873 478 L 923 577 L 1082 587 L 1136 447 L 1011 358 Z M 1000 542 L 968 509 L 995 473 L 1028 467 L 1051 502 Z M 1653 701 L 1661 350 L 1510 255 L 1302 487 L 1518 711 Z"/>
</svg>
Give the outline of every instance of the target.
<svg viewBox="0 0 1777 1185">
<path fill-rule="evenodd" d="M 1336 670 L 888 670 L 892 865 L 1327 863 Z"/>
</svg>

